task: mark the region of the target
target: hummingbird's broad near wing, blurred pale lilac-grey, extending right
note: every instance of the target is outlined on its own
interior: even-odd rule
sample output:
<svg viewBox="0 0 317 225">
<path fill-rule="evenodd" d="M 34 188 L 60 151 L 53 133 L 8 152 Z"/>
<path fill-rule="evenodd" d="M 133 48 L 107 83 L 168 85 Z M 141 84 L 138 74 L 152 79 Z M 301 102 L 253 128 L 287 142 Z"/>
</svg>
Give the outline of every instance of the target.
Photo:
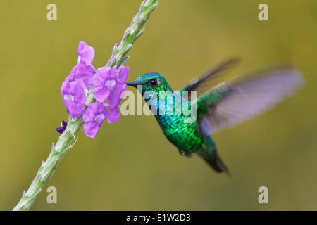
<svg viewBox="0 0 317 225">
<path fill-rule="evenodd" d="M 249 120 L 294 94 L 304 83 L 296 68 L 251 72 L 223 82 L 197 98 L 197 121 L 210 135 Z"/>
</svg>

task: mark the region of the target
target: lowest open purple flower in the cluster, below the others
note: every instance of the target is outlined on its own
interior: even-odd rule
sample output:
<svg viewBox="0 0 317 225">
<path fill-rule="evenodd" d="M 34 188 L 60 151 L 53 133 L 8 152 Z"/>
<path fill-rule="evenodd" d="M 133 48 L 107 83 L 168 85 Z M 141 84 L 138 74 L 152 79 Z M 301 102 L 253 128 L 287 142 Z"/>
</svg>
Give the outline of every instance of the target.
<svg viewBox="0 0 317 225">
<path fill-rule="evenodd" d="M 94 138 L 106 117 L 107 110 L 102 103 L 91 103 L 82 115 L 82 120 L 85 122 L 84 132 L 86 136 Z"/>
</svg>

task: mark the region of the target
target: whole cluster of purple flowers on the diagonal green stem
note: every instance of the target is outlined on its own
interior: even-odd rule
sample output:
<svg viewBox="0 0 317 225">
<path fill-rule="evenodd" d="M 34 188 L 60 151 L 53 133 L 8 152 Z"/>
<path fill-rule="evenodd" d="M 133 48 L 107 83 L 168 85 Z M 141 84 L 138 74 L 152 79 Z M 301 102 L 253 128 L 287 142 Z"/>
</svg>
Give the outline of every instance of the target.
<svg viewBox="0 0 317 225">
<path fill-rule="evenodd" d="M 61 86 L 61 96 L 68 114 L 74 118 L 82 116 L 86 136 L 94 138 L 104 120 L 107 119 L 109 123 L 119 120 L 118 107 L 127 89 L 125 82 L 128 79 L 129 68 L 121 65 L 117 69 L 115 65 L 113 68 L 102 67 L 96 71 L 92 65 L 94 49 L 84 41 L 80 41 L 77 55 L 77 65 Z M 92 93 L 97 102 L 89 104 L 85 110 L 87 93 L 92 86 Z M 63 121 L 63 125 L 56 130 L 62 134 L 66 126 L 67 123 L 65 125 Z"/>
</svg>

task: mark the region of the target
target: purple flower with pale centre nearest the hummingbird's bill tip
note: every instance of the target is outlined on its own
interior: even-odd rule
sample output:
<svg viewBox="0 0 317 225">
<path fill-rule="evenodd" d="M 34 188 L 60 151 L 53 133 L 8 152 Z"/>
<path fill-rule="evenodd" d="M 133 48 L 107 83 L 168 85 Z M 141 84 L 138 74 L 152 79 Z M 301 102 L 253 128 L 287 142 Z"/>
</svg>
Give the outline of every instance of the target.
<svg viewBox="0 0 317 225">
<path fill-rule="evenodd" d="M 97 101 L 101 103 L 106 101 L 111 91 L 115 88 L 116 70 L 116 66 L 113 68 L 103 67 L 97 69 L 93 79 L 94 90 L 92 91 Z"/>
</svg>

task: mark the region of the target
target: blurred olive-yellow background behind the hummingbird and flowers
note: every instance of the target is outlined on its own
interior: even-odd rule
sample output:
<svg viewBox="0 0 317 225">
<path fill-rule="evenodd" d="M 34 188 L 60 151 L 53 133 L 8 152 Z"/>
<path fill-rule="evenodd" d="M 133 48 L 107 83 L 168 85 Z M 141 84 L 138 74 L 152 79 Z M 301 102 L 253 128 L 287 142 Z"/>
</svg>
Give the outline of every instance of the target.
<svg viewBox="0 0 317 225">
<path fill-rule="evenodd" d="M 139 1 L 4 1 L 0 54 L 0 210 L 11 210 L 56 142 L 60 86 L 80 40 L 103 66 Z M 47 4 L 57 21 L 46 20 Z M 258 6 L 268 4 L 269 21 Z M 161 1 L 130 51 L 130 80 L 160 72 L 173 88 L 232 56 L 230 76 L 275 63 L 306 85 L 273 110 L 213 135 L 232 178 L 181 157 L 154 117 L 122 116 L 95 139 L 82 131 L 32 210 L 317 210 L 317 1 Z M 135 91 L 128 87 L 128 89 Z M 57 204 L 46 188 L 57 188 Z M 258 188 L 268 187 L 268 204 Z"/>
</svg>

